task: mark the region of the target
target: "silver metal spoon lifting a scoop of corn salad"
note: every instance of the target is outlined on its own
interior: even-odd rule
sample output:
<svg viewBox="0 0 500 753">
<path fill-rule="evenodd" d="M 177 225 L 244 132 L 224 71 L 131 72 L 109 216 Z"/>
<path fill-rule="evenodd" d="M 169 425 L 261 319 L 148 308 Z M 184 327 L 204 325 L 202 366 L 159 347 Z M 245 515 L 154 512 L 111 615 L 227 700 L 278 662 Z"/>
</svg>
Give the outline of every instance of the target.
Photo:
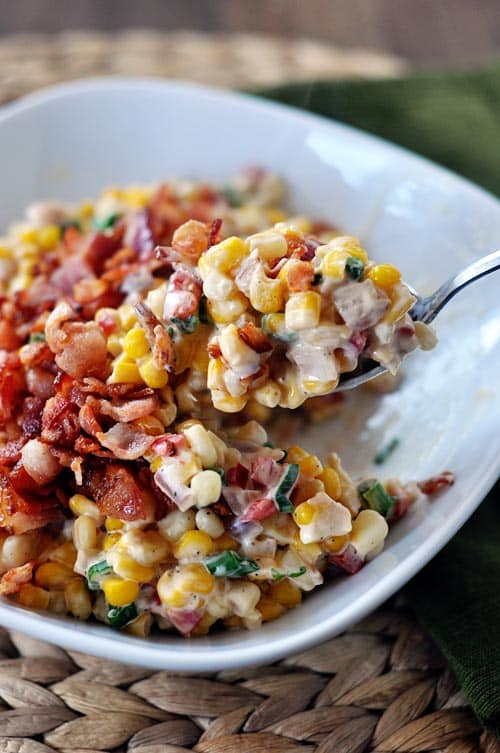
<svg viewBox="0 0 500 753">
<path fill-rule="evenodd" d="M 425 298 L 420 296 L 410 285 L 407 285 L 410 293 L 417 299 L 409 312 L 411 318 L 416 322 L 430 324 L 448 301 L 462 288 L 475 280 L 479 280 L 480 277 L 490 274 L 490 272 L 495 272 L 497 269 L 500 269 L 500 250 L 472 262 Z M 359 387 L 386 372 L 385 366 L 380 366 L 370 358 L 363 359 L 355 371 L 342 374 L 336 390 L 352 390 L 354 387 Z"/>
</svg>

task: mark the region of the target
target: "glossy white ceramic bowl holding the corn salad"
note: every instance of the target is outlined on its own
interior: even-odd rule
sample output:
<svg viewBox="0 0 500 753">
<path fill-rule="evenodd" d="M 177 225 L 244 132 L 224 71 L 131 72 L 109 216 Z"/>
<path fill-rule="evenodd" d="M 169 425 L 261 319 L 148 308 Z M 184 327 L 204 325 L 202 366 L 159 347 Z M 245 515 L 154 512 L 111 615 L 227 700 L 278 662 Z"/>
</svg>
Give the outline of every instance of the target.
<svg viewBox="0 0 500 753">
<path fill-rule="evenodd" d="M 182 83 L 104 79 L 55 87 L 0 114 L 0 227 L 32 200 L 91 197 L 109 184 L 172 174 L 225 180 L 259 163 L 289 183 L 297 208 L 359 235 L 430 292 L 500 245 L 500 203 L 436 165 L 352 128 L 250 96 Z M 453 536 L 500 468 L 498 278 L 476 283 L 437 320 L 439 347 L 412 355 L 401 389 L 358 395 L 301 437 L 336 446 L 354 473 L 398 436 L 385 476 L 456 484 L 391 532 L 359 574 L 317 590 L 254 632 L 147 640 L 2 602 L 0 622 L 62 646 L 176 671 L 266 663 L 339 633 L 403 586 Z M 380 470 L 377 469 L 380 473 Z"/>
</svg>

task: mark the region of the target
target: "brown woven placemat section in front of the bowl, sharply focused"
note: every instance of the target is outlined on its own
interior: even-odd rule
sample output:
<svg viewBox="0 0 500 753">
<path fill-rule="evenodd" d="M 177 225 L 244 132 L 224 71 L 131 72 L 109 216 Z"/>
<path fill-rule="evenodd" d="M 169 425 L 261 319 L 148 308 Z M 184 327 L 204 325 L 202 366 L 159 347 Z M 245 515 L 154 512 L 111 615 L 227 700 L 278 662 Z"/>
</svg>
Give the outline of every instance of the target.
<svg viewBox="0 0 500 753">
<path fill-rule="evenodd" d="M 401 608 L 277 664 L 180 676 L 0 633 L 5 753 L 499 753 Z"/>
</svg>

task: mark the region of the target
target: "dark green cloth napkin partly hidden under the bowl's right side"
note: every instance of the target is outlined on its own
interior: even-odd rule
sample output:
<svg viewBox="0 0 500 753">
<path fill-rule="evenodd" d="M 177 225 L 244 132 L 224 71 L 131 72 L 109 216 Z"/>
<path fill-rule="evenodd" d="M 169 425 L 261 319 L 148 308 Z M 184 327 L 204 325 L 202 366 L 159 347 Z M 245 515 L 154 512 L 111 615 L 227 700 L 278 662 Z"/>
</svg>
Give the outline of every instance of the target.
<svg viewBox="0 0 500 753">
<path fill-rule="evenodd" d="M 258 93 L 387 138 L 500 195 L 500 63 L 470 73 L 289 84 Z M 499 495 L 497 485 L 407 594 L 478 719 L 500 737 Z"/>
</svg>

